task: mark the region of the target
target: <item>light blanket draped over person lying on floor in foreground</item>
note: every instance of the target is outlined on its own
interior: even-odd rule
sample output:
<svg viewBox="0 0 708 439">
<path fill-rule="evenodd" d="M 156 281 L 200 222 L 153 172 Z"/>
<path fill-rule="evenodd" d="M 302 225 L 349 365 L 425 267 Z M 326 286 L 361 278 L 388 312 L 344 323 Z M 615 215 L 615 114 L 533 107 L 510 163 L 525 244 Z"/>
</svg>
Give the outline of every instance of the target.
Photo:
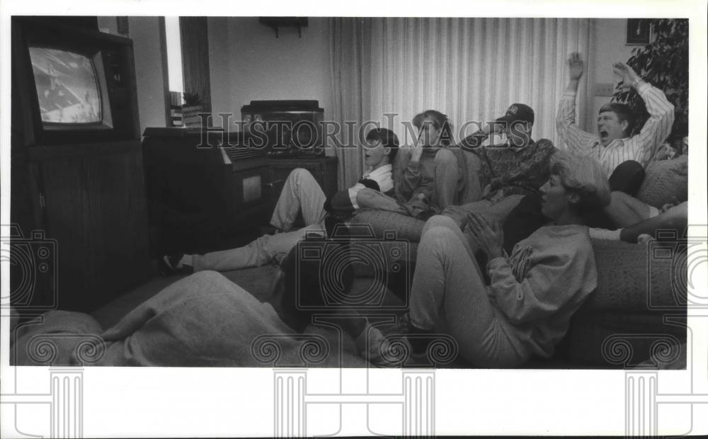
<svg viewBox="0 0 708 439">
<path fill-rule="evenodd" d="M 270 304 L 216 272 L 178 280 L 105 331 L 88 314 L 52 311 L 16 328 L 16 365 L 366 367 L 350 337 L 296 333 Z"/>
</svg>

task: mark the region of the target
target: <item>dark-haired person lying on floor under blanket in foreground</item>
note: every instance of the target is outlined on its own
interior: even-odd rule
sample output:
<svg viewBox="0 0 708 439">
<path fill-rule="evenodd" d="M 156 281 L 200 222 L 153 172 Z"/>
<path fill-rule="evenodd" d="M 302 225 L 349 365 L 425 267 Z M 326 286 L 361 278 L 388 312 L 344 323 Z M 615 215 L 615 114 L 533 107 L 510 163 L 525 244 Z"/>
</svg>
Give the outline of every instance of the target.
<svg viewBox="0 0 708 439">
<path fill-rule="evenodd" d="M 307 248 L 320 249 L 324 254 L 338 244 L 325 239 L 307 242 Z M 35 365 L 33 340 L 48 333 L 90 336 L 87 341 L 100 341 L 103 355 L 97 355 L 94 365 L 105 366 L 249 366 L 268 365 L 258 358 L 254 343 L 261 336 L 275 336 L 282 353 L 283 363 L 302 363 L 300 337 L 312 324 L 312 315 L 326 314 L 326 295 L 343 297 L 351 292 L 353 270 L 346 266 L 339 270 L 336 282 L 338 292 L 324 291 L 321 282 L 326 264 L 312 258 L 299 258 L 295 246 L 282 261 L 282 271 L 273 280 L 273 295 L 268 302 L 261 302 L 244 288 L 236 285 L 221 273 L 202 271 L 165 287 L 135 309 L 125 314 L 118 323 L 103 331 L 88 314 L 52 311 L 43 317 L 43 323 L 28 325 L 28 331 L 18 333 L 16 364 Z M 298 260 L 299 258 L 299 260 Z M 355 296 L 358 297 L 358 296 Z M 386 341 L 379 330 L 372 328 L 350 306 L 353 300 L 343 300 L 349 305 L 335 307 L 329 314 L 337 314 L 336 321 L 355 343 L 354 355 L 343 352 L 343 358 L 334 355 L 324 358 L 324 364 L 341 367 L 362 366 L 361 358 L 379 358 L 379 351 Z M 319 310 L 319 311 L 318 311 Z M 53 365 L 80 365 L 77 338 L 52 338 L 55 359 Z M 80 341 L 80 338 L 79 338 Z M 329 343 L 329 341 L 327 342 Z M 383 343 L 383 346 L 382 346 Z M 267 356 L 267 355 L 266 355 Z"/>
</svg>

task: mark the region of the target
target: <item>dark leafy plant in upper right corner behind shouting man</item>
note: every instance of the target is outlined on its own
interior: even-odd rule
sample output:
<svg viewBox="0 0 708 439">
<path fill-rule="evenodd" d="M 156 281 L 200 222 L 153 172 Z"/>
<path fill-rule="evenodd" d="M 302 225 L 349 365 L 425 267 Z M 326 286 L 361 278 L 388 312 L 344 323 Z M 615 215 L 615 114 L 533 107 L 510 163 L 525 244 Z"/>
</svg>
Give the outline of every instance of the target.
<svg viewBox="0 0 708 439">
<path fill-rule="evenodd" d="M 653 38 L 644 47 L 632 50 L 627 65 L 649 84 L 666 93 L 675 107 L 669 141 L 688 135 L 688 20 L 659 18 L 651 20 Z M 618 84 L 619 85 L 619 84 Z M 626 102 L 639 115 L 638 126 L 649 117 L 644 101 L 634 89 L 615 91 L 613 101 Z"/>
</svg>

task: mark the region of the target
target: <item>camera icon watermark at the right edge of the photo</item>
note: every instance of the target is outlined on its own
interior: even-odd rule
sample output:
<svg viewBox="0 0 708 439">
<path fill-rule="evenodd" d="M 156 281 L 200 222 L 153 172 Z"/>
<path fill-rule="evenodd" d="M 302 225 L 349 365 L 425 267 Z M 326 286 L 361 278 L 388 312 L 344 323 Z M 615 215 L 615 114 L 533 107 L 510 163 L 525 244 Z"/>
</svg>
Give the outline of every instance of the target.
<svg viewBox="0 0 708 439">
<path fill-rule="evenodd" d="M 687 236 L 687 229 L 658 230 L 656 240 L 647 245 L 646 260 L 649 309 L 708 308 L 708 290 L 698 280 L 708 263 L 708 236 Z"/>
</svg>

